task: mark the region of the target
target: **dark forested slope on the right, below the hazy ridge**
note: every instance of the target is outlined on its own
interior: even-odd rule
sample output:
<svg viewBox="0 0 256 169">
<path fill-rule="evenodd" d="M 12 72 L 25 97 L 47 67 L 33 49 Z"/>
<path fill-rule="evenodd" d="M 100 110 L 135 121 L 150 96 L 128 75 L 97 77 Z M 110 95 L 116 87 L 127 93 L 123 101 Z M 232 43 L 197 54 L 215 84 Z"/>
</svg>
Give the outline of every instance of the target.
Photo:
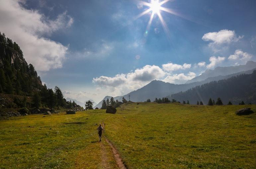
<svg viewBox="0 0 256 169">
<path fill-rule="evenodd" d="M 241 101 L 245 104 L 256 104 L 256 70 L 252 74 L 241 74 L 212 81 L 171 95 L 172 99 L 180 102 L 189 100 L 191 104 L 197 104 L 197 101 L 202 101 L 204 105 L 210 98 L 216 100 L 218 97 L 222 99 L 223 104 L 229 101 L 232 104 L 238 104 Z"/>
</svg>

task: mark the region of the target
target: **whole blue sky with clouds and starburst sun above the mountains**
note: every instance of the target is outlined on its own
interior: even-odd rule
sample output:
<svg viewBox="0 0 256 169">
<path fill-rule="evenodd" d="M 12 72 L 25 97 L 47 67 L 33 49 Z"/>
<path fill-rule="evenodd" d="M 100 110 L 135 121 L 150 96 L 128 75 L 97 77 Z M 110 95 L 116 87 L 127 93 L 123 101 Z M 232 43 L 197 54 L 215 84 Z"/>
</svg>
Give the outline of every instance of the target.
<svg viewBox="0 0 256 169">
<path fill-rule="evenodd" d="M 256 61 L 255 0 L 164 0 L 160 15 L 150 2 L 0 0 L 0 32 L 48 88 L 81 102 Z"/>
</svg>

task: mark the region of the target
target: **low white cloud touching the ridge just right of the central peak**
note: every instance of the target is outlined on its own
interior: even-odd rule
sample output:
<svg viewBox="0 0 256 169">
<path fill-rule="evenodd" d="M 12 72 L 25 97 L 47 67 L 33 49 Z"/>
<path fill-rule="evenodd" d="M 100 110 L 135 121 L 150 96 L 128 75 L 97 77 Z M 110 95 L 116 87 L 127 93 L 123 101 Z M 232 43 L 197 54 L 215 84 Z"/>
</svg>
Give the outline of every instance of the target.
<svg viewBox="0 0 256 169">
<path fill-rule="evenodd" d="M 175 84 L 184 84 L 186 81 L 193 79 L 194 77 L 196 77 L 196 73 L 194 72 L 189 72 L 187 75 L 180 73 L 172 76 L 168 75 L 163 81 Z"/>
</svg>

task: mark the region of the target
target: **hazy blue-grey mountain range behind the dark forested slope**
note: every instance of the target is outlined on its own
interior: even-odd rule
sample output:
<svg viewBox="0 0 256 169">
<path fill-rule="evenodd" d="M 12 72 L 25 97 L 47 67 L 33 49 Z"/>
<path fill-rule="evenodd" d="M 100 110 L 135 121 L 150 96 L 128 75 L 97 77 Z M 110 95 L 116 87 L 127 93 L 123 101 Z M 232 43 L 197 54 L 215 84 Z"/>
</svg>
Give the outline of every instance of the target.
<svg viewBox="0 0 256 169">
<path fill-rule="evenodd" d="M 118 99 L 122 101 L 124 97 L 126 100 L 130 100 L 133 102 L 144 102 L 147 99 L 151 101 L 155 100 L 155 98 L 163 98 L 169 97 L 171 98 L 172 94 L 179 93 L 182 91 L 186 91 L 196 86 L 200 86 L 212 81 L 218 81 L 221 79 L 227 79 L 232 76 L 237 76 L 240 74 L 251 74 L 253 70 L 256 69 L 256 62 L 248 61 L 245 65 L 239 66 L 229 66 L 229 67 L 216 67 L 214 70 L 207 69 L 204 73 L 200 76 L 197 76 L 185 84 L 172 84 L 163 82 L 161 80 L 153 80 L 149 84 L 145 85 L 144 87 L 132 91 L 124 96 L 117 96 L 114 99 Z M 111 98 L 111 96 L 106 96 L 103 100 L 107 98 Z M 102 100 L 102 101 L 103 101 Z M 99 102 L 94 108 L 101 107 L 102 101 Z"/>
</svg>

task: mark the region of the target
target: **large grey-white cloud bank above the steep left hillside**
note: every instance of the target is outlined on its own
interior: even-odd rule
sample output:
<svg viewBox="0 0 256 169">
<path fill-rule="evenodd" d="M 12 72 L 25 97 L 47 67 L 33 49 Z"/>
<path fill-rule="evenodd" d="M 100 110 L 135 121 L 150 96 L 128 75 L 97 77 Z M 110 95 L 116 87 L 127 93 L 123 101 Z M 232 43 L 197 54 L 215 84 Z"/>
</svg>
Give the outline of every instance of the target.
<svg viewBox="0 0 256 169">
<path fill-rule="evenodd" d="M 27 62 L 32 63 L 38 71 L 62 67 L 68 47 L 43 36 L 70 27 L 73 19 L 65 11 L 56 20 L 49 20 L 38 11 L 22 7 L 21 4 L 25 2 L 0 1 L 1 33 L 21 46 Z"/>
</svg>

